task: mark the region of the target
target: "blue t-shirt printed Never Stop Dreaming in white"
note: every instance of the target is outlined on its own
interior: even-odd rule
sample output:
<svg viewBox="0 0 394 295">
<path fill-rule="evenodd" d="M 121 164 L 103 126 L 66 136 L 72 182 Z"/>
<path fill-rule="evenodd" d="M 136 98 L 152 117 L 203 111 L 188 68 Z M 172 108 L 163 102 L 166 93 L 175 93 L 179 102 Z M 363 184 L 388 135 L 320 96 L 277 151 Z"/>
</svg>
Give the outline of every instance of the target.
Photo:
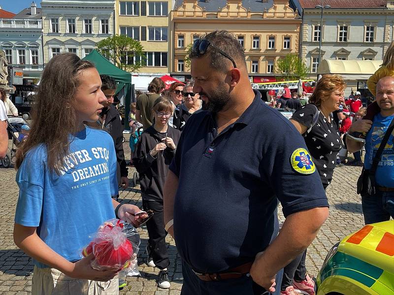
<svg viewBox="0 0 394 295">
<path fill-rule="evenodd" d="M 115 148 L 107 132 L 86 127 L 70 139 L 61 175 L 47 167 L 44 145 L 26 154 L 16 175 L 20 191 L 15 223 L 36 227 L 50 248 L 76 261 L 99 226 L 115 218 L 111 196 L 118 194 L 118 182 Z"/>
</svg>

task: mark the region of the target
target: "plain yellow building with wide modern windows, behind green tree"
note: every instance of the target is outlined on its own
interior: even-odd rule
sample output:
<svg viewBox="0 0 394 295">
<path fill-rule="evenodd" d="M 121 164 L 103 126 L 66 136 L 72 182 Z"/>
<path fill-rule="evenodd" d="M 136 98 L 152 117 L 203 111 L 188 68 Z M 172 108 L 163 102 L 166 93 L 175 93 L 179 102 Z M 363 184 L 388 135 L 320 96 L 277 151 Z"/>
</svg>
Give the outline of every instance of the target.
<svg viewBox="0 0 394 295">
<path fill-rule="evenodd" d="M 168 74 L 168 15 L 173 7 L 174 0 L 116 0 L 115 33 L 140 41 L 144 48 L 145 66 L 138 70 L 139 76 Z M 133 59 L 127 62 L 132 64 Z"/>
</svg>

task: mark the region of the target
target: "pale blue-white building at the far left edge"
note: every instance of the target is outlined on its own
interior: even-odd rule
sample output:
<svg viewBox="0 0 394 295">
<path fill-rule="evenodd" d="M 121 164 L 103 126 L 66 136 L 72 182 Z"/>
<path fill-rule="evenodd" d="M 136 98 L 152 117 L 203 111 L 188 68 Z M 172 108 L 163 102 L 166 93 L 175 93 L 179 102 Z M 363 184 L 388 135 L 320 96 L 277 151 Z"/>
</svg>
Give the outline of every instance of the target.
<svg viewBox="0 0 394 295">
<path fill-rule="evenodd" d="M 12 19 L 0 19 L 0 48 L 8 65 L 24 69 L 25 79 L 37 79 L 44 68 L 42 13 L 33 2 Z"/>
</svg>

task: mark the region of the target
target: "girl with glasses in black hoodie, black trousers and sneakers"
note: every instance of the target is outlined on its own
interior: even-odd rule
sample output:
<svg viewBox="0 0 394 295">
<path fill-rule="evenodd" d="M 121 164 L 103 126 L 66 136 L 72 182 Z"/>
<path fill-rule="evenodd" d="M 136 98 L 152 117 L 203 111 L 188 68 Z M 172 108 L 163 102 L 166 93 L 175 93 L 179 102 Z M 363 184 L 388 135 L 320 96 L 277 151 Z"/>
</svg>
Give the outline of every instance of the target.
<svg viewBox="0 0 394 295">
<path fill-rule="evenodd" d="M 154 212 L 146 223 L 148 265 L 160 269 L 158 286 L 168 289 L 169 258 L 165 246 L 163 188 L 181 132 L 168 125 L 173 113 L 173 105 L 168 98 L 159 97 L 153 104 L 152 113 L 154 124 L 141 134 L 132 161 L 140 175 L 142 206 L 144 210 Z"/>
</svg>

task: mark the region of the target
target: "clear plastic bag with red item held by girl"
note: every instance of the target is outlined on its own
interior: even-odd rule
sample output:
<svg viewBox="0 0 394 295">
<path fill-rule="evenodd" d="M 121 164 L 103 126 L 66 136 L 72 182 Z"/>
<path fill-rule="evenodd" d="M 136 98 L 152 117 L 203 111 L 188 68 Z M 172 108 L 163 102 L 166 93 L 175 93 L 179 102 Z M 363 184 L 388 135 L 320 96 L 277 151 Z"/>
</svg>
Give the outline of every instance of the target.
<svg viewBox="0 0 394 295">
<path fill-rule="evenodd" d="M 96 235 L 83 251 L 83 256 L 93 253 L 91 266 L 103 270 L 117 267 L 126 271 L 137 264 L 139 235 L 135 228 L 123 220 L 111 219 L 100 225 Z M 130 239 L 129 239 L 130 238 Z"/>
</svg>

